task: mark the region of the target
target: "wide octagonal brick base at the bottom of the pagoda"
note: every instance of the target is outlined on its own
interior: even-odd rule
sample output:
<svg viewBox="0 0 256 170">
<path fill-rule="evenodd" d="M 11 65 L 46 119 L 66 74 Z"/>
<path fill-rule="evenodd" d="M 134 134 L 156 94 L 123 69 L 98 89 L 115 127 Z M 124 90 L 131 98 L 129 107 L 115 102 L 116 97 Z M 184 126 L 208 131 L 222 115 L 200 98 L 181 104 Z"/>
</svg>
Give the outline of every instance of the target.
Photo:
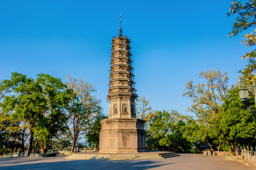
<svg viewBox="0 0 256 170">
<path fill-rule="evenodd" d="M 99 153 L 138 153 L 146 151 L 145 120 L 113 118 L 101 120 Z"/>
</svg>

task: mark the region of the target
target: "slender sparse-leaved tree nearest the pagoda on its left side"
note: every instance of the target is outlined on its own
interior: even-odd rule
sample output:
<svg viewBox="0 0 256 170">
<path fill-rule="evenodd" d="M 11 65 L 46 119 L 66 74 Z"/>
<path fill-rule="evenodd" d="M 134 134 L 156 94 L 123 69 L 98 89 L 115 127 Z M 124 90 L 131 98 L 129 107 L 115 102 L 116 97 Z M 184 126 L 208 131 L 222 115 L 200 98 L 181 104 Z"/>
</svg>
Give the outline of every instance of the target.
<svg viewBox="0 0 256 170">
<path fill-rule="evenodd" d="M 68 88 L 72 89 L 73 95 L 68 103 L 68 132 L 72 137 L 72 152 L 75 150 L 76 141 L 80 135 L 85 133 L 92 121 L 101 114 L 100 100 L 92 95 L 96 92 L 95 85 L 89 84 L 81 78 L 72 78 L 67 75 Z"/>
</svg>

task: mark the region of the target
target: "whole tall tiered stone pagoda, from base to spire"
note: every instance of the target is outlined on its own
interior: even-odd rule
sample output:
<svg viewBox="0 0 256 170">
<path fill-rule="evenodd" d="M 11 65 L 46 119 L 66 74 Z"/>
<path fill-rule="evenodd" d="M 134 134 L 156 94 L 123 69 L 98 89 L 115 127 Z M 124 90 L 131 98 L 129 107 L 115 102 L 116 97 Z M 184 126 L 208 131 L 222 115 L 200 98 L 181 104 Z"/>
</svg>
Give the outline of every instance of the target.
<svg viewBox="0 0 256 170">
<path fill-rule="evenodd" d="M 100 153 L 137 153 L 146 151 L 145 121 L 136 119 L 134 77 L 130 38 L 112 39 L 109 91 L 109 119 L 101 120 Z"/>
</svg>

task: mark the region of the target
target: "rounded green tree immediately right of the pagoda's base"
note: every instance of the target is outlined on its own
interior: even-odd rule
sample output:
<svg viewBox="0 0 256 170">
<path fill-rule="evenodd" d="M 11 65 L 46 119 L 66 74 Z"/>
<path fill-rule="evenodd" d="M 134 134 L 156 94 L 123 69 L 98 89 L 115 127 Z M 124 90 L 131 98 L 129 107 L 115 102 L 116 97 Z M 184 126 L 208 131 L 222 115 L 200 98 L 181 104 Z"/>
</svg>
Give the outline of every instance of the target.
<svg viewBox="0 0 256 170">
<path fill-rule="evenodd" d="M 188 116 L 180 115 L 177 111 L 157 111 L 157 114 L 151 119 L 151 125 L 148 133 L 151 134 L 156 144 L 153 148 L 162 151 L 190 152 L 191 145 L 183 137 L 182 127 L 186 125 Z M 147 143 L 149 144 L 149 143 Z M 151 146 L 152 147 L 152 146 Z"/>
</svg>

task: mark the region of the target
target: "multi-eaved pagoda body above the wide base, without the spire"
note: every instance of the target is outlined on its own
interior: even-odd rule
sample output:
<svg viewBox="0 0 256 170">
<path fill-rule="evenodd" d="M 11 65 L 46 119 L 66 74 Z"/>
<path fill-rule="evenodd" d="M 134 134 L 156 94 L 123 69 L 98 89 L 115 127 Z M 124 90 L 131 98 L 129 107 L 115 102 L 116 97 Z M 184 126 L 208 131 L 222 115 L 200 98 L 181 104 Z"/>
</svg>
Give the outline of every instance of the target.
<svg viewBox="0 0 256 170">
<path fill-rule="evenodd" d="M 109 118 L 136 118 L 135 99 L 138 97 L 133 87 L 133 67 L 131 63 L 130 40 L 116 37 L 112 40 L 109 94 Z"/>
</svg>

